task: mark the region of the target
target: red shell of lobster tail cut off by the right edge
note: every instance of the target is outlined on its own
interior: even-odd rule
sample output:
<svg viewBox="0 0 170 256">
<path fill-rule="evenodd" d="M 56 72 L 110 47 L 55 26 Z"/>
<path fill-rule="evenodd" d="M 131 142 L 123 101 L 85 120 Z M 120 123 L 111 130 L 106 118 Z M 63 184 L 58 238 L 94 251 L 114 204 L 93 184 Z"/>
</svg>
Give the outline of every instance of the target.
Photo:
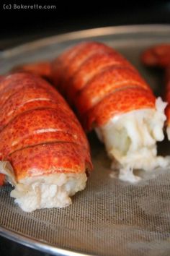
<svg viewBox="0 0 170 256">
<path fill-rule="evenodd" d="M 164 69 L 165 101 L 166 106 L 166 133 L 170 140 L 170 43 L 161 43 L 152 46 L 141 55 L 141 61 L 147 67 L 159 67 Z"/>
</svg>

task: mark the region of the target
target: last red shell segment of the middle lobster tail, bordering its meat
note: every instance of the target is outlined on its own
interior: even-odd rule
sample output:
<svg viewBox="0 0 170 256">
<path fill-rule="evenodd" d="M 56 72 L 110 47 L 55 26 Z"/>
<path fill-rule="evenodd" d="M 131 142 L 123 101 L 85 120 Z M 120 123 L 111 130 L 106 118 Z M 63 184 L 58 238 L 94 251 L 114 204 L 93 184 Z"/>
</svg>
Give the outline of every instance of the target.
<svg viewBox="0 0 170 256">
<path fill-rule="evenodd" d="M 155 97 L 143 88 L 125 88 L 107 95 L 96 106 L 81 116 L 87 130 L 106 124 L 109 119 L 128 111 L 155 108 Z"/>
</svg>

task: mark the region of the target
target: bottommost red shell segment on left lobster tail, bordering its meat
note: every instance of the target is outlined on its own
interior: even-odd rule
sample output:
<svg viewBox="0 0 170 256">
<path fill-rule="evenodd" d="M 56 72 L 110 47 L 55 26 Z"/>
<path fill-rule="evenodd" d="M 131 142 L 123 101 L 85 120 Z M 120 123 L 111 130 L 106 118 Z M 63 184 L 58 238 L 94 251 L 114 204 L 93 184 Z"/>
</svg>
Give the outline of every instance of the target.
<svg viewBox="0 0 170 256">
<path fill-rule="evenodd" d="M 22 148 L 6 157 L 17 179 L 56 173 L 83 173 L 90 169 L 89 152 L 72 142 L 50 142 Z"/>
</svg>

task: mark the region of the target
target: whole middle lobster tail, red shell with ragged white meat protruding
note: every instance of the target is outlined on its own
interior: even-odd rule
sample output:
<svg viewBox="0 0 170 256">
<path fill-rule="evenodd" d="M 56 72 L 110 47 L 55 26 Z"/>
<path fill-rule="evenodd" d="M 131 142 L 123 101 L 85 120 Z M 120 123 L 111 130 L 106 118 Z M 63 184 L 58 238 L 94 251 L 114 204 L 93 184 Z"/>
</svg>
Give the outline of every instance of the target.
<svg viewBox="0 0 170 256">
<path fill-rule="evenodd" d="M 164 103 L 130 62 L 114 49 L 83 42 L 52 61 L 54 85 L 68 100 L 84 129 L 95 129 L 120 168 L 120 179 L 138 181 L 133 169 L 151 171 L 166 166 L 157 156 L 156 142 L 164 140 Z"/>
</svg>

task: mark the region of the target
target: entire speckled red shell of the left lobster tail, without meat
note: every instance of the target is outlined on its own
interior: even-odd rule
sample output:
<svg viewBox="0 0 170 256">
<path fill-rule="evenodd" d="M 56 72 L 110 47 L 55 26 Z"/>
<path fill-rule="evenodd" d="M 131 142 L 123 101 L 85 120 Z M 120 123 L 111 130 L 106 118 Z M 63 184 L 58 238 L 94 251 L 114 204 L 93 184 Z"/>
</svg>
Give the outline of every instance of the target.
<svg viewBox="0 0 170 256">
<path fill-rule="evenodd" d="M 86 135 L 62 96 L 35 74 L 0 80 L 0 158 L 17 181 L 27 176 L 92 168 Z M 3 183 L 3 175 L 0 183 Z"/>
</svg>

